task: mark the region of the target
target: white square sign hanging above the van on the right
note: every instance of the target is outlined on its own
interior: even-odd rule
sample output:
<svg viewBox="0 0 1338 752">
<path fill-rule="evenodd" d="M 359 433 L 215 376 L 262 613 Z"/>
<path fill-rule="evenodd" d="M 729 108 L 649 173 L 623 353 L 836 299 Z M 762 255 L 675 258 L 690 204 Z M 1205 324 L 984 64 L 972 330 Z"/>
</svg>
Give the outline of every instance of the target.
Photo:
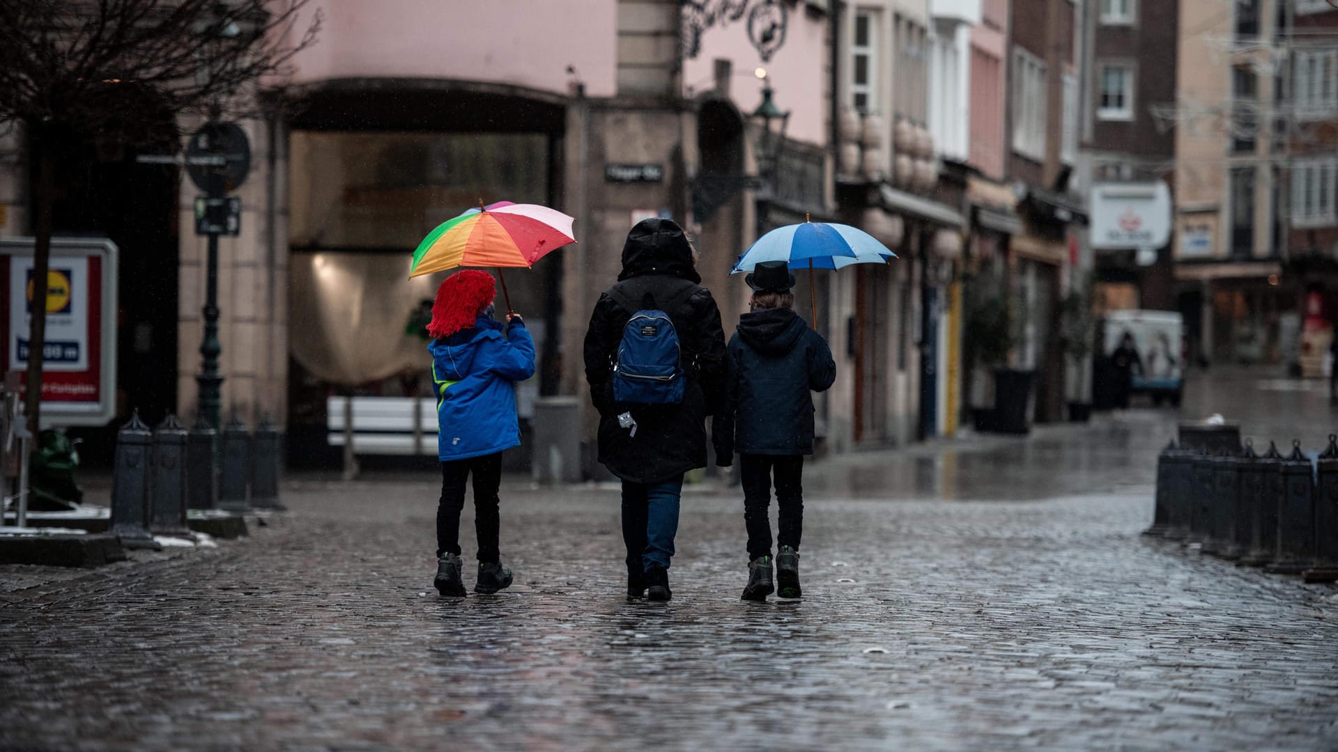
<svg viewBox="0 0 1338 752">
<path fill-rule="evenodd" d="M 1161 248 L 1169 238 L 1171 190 L 1165 182 L 1092 187 L 1092 248 Z"/>
</svg>

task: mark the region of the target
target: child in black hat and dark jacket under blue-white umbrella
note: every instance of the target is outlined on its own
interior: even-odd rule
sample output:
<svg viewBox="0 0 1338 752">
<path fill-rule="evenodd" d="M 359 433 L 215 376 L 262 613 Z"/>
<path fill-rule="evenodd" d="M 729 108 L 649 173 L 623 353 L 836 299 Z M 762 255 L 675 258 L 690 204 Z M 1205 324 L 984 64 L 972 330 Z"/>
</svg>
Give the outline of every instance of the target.
<svg viewBox="0 0 1338 752">
<path fill-rule="evenodd" d="M 777 594 L 799 598 L 799 539 L 804 525 L 804 455 L 814 454 L 814 397 L 836 380 L 836 364 L 822 335 L 793 310 L 795 276 L 784 261 L 759 264 L 745 278 L 753 289 L 749 313 L 729 340 L 724 408 L 712 424 L 716 464 L 737 451 L 748 527 L 748 586 L 744 599 L 764 601 L 773 590 L 771 559 L 772 480 L 779 516 Z"/>
</svg>

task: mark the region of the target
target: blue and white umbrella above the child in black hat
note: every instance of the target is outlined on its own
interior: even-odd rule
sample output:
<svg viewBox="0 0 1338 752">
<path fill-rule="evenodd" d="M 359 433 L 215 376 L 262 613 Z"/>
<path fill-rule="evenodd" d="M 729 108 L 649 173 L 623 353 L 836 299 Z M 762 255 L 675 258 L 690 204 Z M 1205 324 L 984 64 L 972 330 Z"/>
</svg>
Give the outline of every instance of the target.
<svg viewBox="0 0 1338 752">
<path fill-rule="evenodd" d="M 752 272 L 767 261 L 784 261 L 791 269 L 844 269 L 851 264 L 887 264 L 896 258 L 886 245 L 874 236 L 835 222 L 801 222 L 776 227 L 757 238 L 735 262 L 731 274 Z M 818 304 L 812 278 L 808 280 L 809 306 L 814 328 L 818 328 Z"/>
</svg>

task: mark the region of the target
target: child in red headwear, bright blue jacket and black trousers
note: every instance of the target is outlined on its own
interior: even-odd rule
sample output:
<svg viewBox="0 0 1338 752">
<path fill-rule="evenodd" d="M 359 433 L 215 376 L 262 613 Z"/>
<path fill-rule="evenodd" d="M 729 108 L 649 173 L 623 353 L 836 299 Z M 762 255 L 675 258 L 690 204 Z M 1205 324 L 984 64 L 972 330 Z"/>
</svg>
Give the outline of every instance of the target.
<svg viewBox="0 0 1338 752">
<path fill-rule="evenodd" d="M 474 476 L 474 527 L 479 538 L 475 593 L 511 585 L 498 550 L 498 487 L 502 451 L 520 444 L 514 381 L 534 375 L 534 340 L 518 314 L 503 326 L 492 318 L 496 286 L 486 272 L 464 270 L 436 290 L 428 343 L 436 396 L 442 498 L 436 507 L 436 579 L 443 595 L 463 597 L 460 510 Z"/>
</svg>

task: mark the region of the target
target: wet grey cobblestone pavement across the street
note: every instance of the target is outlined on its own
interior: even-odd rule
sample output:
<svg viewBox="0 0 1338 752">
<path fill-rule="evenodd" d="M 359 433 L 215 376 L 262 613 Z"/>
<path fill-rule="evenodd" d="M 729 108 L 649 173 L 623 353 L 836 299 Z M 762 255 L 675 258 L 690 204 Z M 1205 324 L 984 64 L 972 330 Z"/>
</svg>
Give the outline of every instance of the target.
<svg viewBox="0 0 1338 752">
<path fill-rule="evenodd" d="M 1322 436 L 1327 401 L 1270 395 Z M 448 601 L 429 478 L 294 482 L 248 541 L 0 567 L 37 582 L 0 598 L 0 748 L 1338 749 L 1338 589 L 1139 535 L 1173 420 L 809 466 L 805 595 L 768 603 L 719 484 L 660 605 L 621 595 L 606 486 L 508 480 L 516 583 Z"/>
</svg>

